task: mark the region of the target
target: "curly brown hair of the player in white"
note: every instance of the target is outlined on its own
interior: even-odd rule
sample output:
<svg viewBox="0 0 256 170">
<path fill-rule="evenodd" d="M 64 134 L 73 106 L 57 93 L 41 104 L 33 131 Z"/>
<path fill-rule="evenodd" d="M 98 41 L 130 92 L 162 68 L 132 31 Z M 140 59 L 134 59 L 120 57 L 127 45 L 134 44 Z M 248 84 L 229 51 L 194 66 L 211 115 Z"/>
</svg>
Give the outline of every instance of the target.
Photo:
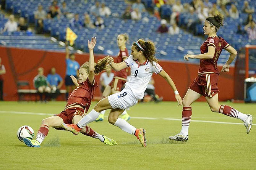
<svg viewBox="0 0 256 170">
<path fill-rule="evenodd" d="M 133 43 L 133 46 L 137 51 L 142 51 L 143 55 L 149 60 L 149 62 L 154 66 L 153 61 L 156 63 L 159 62 L 158 59 L 156 59 L 155 53 L 156 53 L 156 47 L 154 43 L 149 40 L 149 41 L 144 41 L 143 39 L 138 40 L 139 45 L 144 49 L 142 50 L 139 48 L 139 46 L 136 43 Z"/>
</svg>

